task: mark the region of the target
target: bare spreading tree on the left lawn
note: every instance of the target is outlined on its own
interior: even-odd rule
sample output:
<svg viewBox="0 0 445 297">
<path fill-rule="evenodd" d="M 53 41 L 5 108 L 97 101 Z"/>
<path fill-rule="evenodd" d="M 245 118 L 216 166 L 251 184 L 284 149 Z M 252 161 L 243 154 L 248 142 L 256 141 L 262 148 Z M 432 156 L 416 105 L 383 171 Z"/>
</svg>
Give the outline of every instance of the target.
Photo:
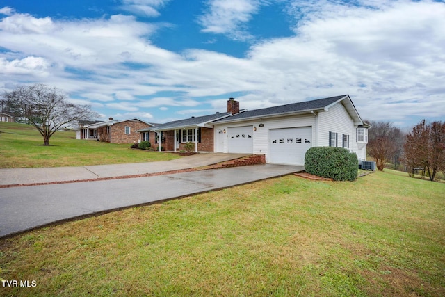
<svg viewBox="0 0 445 297">
<path fill-rule="evenodd" d="M 3 93 L 3 98 L 17 117 L 38 129 L 43 145 L 49 145 L 49 138 L 60 128 L 97 117 L 90 106 L 72 104 L 62 90 L 40 83 L 20 86 Z"/>
</svg>

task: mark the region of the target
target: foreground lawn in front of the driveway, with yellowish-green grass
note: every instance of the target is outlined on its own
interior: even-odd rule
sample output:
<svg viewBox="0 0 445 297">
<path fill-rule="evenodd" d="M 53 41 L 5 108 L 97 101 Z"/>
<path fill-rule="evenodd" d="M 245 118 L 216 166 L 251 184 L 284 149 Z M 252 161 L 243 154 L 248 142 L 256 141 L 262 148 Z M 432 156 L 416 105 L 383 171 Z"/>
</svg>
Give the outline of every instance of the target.
<svg viewBox="0 0 445 297">
<path fill-rule="evenodd" d="M 445 184 L 294 176 L 0 240 L 1 296 L 445 296 Z"/>
</svg>

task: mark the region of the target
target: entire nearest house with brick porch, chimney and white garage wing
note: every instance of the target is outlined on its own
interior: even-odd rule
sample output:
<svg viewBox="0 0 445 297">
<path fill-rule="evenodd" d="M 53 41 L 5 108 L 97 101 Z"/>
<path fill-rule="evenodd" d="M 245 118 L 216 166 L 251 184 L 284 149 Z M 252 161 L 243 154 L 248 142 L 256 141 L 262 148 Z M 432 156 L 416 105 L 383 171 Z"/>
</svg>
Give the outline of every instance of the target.
<svg viewBox="0 0 445 297">
<path fill-rule="evenodd" d="M 267 163 L 304 165 L 307 150 L 315 146 L 345 147 L 366 160 L 368 128 L 349 95 L 341 95 L 252 111 L 240 110 L 231 98 L 227 113 L 138 131 L 159 150 L 184 150 L 193 142 L 195 152 L 265 154 Z"/>
</svg>

